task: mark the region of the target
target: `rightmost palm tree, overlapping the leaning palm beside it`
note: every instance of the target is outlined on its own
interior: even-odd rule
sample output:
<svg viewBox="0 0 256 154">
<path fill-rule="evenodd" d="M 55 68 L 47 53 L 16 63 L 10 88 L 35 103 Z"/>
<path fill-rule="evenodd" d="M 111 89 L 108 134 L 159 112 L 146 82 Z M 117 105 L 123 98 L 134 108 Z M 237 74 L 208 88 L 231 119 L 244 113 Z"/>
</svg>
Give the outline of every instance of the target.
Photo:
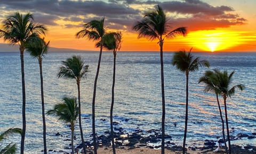
<svg viewBox="0 0 256 154">
<path fill-rule="evenodd" d="M 218 93 L 222 96 L 224 107 L 225 107 L 225 118 L 226 118 L 226 128 L 227 128 L 227 140 L 228 140 L 228 153 L 231 154 L 231 144 L 230 144 L 230 136 L 229 136 L 229 127 L 228 127 L 228 113 L 227 113 L 227 98 L 234 95 L 236 89 L 243 91 L 244 85 L 237 84 L 231 87 L 232 76 L 235 71 L 232 71 L 229 75 L 227 71 L 220 71 L 218 69 L 213 70 L 215 75 L 217 76 L 217 88 Z M 231 87 L 231 88 L 230 88 Z"/>
</svg>

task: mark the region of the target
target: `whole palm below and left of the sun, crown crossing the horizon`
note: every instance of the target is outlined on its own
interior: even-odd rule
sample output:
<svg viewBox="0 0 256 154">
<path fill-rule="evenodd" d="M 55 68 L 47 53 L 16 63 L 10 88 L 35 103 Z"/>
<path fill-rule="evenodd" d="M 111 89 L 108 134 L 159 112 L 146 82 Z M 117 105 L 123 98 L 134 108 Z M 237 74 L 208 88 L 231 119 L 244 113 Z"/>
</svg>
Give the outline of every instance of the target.
<svg viewBox="0 0 256 154">
<path fill-rule="evenodd" d="M 183 138 L 183 150 L 185 153 L 186 150 L 186 138 L 187 138 L 187 127 L 188 127 L 188 75 L 189 72 L 195 72 L 199 69 L 199 66 L 209 67 L 210 64 L 206 60 L 200 60 L 199 57 L 194 58 L 191 55 L 191 50 L 186 52 L 185 50 L 176 52 L 172 58 L 172 65 L 175 65 L 178 70 L 185 72 L 186 74 L 186 115 L 185 115 L 185 130 Z"/>
</svg>

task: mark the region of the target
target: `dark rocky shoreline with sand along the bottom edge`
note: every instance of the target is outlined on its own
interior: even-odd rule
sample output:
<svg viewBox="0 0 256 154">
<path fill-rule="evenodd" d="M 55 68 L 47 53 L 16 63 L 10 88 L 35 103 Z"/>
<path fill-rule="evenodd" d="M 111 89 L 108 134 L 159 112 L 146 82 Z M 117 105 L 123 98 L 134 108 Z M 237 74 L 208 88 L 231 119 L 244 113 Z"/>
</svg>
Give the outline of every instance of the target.
<svg viewBox="0 0 256 154">
<path fill-rule="evenodd" d="M 154 153 L 161 153 L 161 145 L 158 145 L 161 142 L 161 133 L 160 130 L 149 130 L 146 133 L 137 130 L 135 132 L 125 132 L 119 131 L 115 132 L 115 146 L 116 146 L 116 153 L 120 154 L 128 154 L 128 153 L 147 153 L 147 154 L 154 154 Z M 58 133 L 57 133 L 58 134 Z M 57 135 L 56 134 L 56 135 Z M 60 134 L 58 134 L 60 135 Z M 241 134 L 238 133 L 236 136 L 231 136 L 231 141 L 239 141 L 239 140 L 250 140 L 252 143 L 255 142 L 256 133 L 249 134 Z M 222 143 L 221 151 L 214 152 L 215 149 L 218 148 L 217 140 L 204 140 L 204 145 L 200 147 L 191 146 L 187 147 L 187 153 L 226 153 L 224 144 Z M 97 136 L 98 142 L 98 153 L 99 154 L 110 154 L 113 153 L 111 147 L 111 138 L 109 131 L 106 131 L 104 134 Z M 86 153 L 93 154 L 93 143 L 90 141 L 86 141 Z M 239 145 L 239 144 L 231 144 L 232 153 L 256 153 L 256 145 L 254 144 L 246 144 L 246 145 Z M 70 152 L 70 145 L 65 147 L 65 150 L 49 150 L 50 153 L 68 153 Z M 82 152 L 82 143 L 77 144 L 74 149 L 77 149 L 79 152 Z M 76 150 L 76 151 L 77 151 Z M 173 154 L 173 153 L 182 153 L 182 146 L 177 145 L 176 143 L 172 142 L 172 136 L 165 135 L 165 153 Z M 79 153 L 78 152 L 78 153 Z"/>
</svg>

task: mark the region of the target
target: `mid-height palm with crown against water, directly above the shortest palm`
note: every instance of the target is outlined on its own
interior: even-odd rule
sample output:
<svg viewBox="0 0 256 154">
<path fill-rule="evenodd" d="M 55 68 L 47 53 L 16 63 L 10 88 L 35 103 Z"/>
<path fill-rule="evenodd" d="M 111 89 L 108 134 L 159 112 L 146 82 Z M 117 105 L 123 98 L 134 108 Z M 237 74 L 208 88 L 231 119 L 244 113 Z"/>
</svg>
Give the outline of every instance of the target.
<svg viewBox="0 0 256 154">
<path fill-rule="evenodd" d="M 80 56 L 73 56 L 68 58 L 66 61 L 62 61 L 62 66 L 60 67 L 60 71 L 58 73 L 58 78 L 64 79 L 75 79 L 77 84 L 78 91 L 78 108 L 79 108 L 79 128 L 81 133 L 81 139 L 83 144 L 84 153 L 86 153 L 85 144 L 84 144 L 84 135 L 82 130 L 82 122 L 81 122 L 81 96 L 80 96 L 80 81 L 86 77 L 86 73 L 88 72 L 89 65 L 85 65 L 83 59 Z"/>
</svg>

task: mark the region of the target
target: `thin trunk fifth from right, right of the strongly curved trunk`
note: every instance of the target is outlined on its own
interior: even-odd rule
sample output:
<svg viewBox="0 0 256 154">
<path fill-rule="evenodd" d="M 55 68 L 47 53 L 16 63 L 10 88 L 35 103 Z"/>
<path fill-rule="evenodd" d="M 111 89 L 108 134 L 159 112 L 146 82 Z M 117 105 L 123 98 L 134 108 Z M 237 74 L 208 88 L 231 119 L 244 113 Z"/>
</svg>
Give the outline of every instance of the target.
<svg viewBox="0 0 256 154">
<path fill-rule="evenodd" d="M 115 141 L 114 141 L 114 129 L 113 129 L 113 108 L 114 108 L 114 90 L 115 90 L 115 79 L 116 79 L 116 53 L 114 53 L 114 66 L 113 66 L 113 84 L 112 84 L 112 101 L 110 107 L 110 127 L 111 127 L 111 141 L 113 154 L 116 154 Z"/>
</svg>

